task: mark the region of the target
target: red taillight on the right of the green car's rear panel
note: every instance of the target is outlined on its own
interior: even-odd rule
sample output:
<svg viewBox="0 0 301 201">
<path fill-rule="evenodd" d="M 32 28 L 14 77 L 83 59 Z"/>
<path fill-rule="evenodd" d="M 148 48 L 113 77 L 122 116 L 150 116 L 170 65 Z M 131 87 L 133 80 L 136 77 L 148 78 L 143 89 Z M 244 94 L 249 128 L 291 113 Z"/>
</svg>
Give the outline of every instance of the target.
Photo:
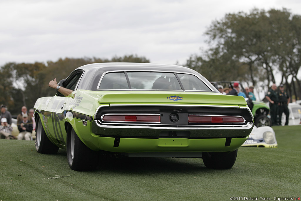
<svg viewBox="0 0 301 201">
<path fill-rule="evenodd" d="M 240 116 L 188 115 L 189 123 L 244 123 Z"/>
</svg>

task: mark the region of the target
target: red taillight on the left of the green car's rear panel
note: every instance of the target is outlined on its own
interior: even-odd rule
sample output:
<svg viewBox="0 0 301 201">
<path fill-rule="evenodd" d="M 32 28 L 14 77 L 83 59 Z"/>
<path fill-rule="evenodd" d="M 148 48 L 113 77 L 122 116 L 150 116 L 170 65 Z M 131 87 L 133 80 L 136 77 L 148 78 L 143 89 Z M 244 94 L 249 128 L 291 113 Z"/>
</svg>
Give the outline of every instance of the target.
<svg viewBox="0 0 301 201">
<path fill-rule="evenodd" d="M 102 115 L 102 121 L 115 121 L 115 122 L 145 122 L 145 123 L 160 123 L 160 114 L 106 114 Z"/>
</svg>

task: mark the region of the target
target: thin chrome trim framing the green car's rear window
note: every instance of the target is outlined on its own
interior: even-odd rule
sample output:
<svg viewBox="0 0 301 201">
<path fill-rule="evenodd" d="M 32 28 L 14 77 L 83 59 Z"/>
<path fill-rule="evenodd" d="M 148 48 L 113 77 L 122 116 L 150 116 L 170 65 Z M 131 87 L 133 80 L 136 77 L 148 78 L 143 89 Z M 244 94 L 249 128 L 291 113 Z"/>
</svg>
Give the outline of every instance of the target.
<svg viewBox="0 0 301 201">
<path fill-rule="evenodd" d="M 124 71 L 120 71 L 120 70 L 116 70 L 116 71 L 107 71 L 107 72 L 104 72 L 102 75 L 101 75 L 101 78 L 98 82 L 98 85 L 97 85 L 97 88 L 96 90 L 143 90 L 143 91 L 158 91 L 158 90 L 152 90 L 152 89 L 100 89 L 100 83 L 101 83 L 101 80 L 103 79 L 104 75 L 107 74 L 107 73 L 113 73 L 113 72 L 165 72 L 165 73 L 180 73 L 180 74 L 190 74 L 190 75 L 194 75 L 196 76 L 197 78 L 199 78 L 210 90 L 159 90 L 159 91 L 195 91 L 195 92 L 216 92 L 215 90 L 213 90 L 201 77 L 199 77 L 197 74 L 193 74 L 193 73 L 188 73 L 188 72 L 180 72 L 180 71 L 158 71 L 158 70 L 124 70 Z"/>
</svg>

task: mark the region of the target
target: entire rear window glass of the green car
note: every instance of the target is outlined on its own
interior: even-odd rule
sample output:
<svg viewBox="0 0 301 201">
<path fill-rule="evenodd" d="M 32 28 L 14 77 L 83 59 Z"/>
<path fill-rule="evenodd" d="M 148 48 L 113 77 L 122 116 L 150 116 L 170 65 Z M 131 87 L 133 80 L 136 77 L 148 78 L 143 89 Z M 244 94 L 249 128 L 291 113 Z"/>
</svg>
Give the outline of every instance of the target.
<svg viewBox="0 0 301 201">
<path fill-rule="evenodd" d="M 106 73 L 98 89 L 212 91 L 192 74 L 136 71 Z"/>
</svg>

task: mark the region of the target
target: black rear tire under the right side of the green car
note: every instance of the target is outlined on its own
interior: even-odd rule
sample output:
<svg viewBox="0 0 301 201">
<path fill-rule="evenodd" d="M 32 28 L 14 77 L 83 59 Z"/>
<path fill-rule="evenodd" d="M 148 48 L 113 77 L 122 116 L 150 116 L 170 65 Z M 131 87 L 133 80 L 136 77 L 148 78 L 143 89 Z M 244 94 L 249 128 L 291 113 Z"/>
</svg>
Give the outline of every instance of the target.
<svg viewBox="0 0 301 201">
<path fill-rule="evenodd" d="M 232 152 L 203 152 L 203 162 L 207 168 L 230 169 L 234 165 L 237 149 Z"/>
</svg>

